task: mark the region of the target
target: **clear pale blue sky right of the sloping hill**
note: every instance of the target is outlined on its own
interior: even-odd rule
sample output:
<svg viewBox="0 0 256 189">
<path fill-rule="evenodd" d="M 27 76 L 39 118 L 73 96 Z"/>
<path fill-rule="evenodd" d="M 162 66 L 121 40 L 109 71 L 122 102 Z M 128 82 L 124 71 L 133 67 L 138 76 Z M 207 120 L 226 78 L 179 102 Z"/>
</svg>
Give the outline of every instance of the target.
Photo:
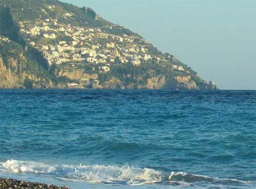
<svg viewBox="0 0 256 189">
<path fill-rule="evenodd" d="M 256 90 L 255 0 L 61 0 L 139 33 L 220 89 Z"/>
</svg>

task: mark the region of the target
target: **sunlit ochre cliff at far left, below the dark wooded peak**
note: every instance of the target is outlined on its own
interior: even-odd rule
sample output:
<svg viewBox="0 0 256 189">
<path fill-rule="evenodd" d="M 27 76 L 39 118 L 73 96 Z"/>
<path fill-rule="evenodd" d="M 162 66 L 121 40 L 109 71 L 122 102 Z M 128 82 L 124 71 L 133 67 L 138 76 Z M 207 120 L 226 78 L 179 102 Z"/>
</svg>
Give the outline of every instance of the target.
<svg viewBox="0 0 256 189">
<path fill-rule="evenodd" d="M 54 87 L 47 72 L 20 45 L 0 36 L 0 88 Z"/>
</svg>

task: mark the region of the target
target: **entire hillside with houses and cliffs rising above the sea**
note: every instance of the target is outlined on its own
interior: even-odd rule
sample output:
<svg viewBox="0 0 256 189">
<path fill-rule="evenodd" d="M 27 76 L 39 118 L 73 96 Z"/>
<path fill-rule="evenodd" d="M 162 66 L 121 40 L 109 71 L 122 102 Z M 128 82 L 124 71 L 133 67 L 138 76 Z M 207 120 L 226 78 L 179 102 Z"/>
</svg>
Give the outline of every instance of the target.
<svg viewBox="0 0 256 189">
<path fill-rule="evenodd" d="M 88 7 L 0 0 L 0 87 L 217 89 Z"/>
</svg>

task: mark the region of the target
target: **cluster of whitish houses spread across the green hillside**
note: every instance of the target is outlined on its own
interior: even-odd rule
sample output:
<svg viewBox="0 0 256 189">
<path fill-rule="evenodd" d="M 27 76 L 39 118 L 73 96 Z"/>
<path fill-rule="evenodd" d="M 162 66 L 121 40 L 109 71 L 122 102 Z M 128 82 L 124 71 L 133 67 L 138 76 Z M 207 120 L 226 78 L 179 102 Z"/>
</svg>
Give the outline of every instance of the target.
<svg viewBox="0 0 256 189">
<path fill-rule="evenodd" d="M 49 6 L 54 10 L 54 6 Z M 42 9 L 42 14 L 46 10 Z M 69 19 L 72 13 L 62 15 Z M 158 56 L 151 56 L 147 41 L 143 44 L 135 43 L 136 36 L 113 35 L 104 28 L 89 28 L 73 26 L 59 22 L 58 18 L 43 19 L 39 16 L 35 22 L 20 22 L 20 31 L 27 36 L 30 45 L 43 52 L 48 63 L 60 65 L 71 64 L 73 67 L 81 63 L 101 64 L 100 72 L 109 72 L 110 64 L 141 65 L 142 62 L 160 61 Z M 115 26 L 105 26 L 112 30 Z M 182 66 L 173 69 L 184 70 Z"/>
</svg>

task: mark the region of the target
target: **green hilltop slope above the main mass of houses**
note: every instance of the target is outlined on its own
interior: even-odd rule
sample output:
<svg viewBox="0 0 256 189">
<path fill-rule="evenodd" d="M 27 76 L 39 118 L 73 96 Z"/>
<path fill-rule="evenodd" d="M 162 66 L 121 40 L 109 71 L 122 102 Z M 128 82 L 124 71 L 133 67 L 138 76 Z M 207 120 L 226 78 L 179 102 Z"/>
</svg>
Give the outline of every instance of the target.
<svg viewBox="0 0 256 189">
<path fill-rule="evenodd" d="M 1 0 L 1 3 L 11 7 L 15 20 L 20 21 L 35 20 L 41 15 L 45 19 L 59 16 L 62 22 L 72 23 L 76 26 L 89 24 L 92 27 L 101 27 L 107 24 L 103 20 L 96 20 L 96 12 L 92 9 L 80 8 L 54 0 Z M 47 11 L 47 14 L 44 14 L 43 10 L 49 10 L 49 6 L 56 6 L 57 9 L 55 11 Z M 61 17 L 66 12 L 72 12 L 72 20 Z"/>
</svg>

